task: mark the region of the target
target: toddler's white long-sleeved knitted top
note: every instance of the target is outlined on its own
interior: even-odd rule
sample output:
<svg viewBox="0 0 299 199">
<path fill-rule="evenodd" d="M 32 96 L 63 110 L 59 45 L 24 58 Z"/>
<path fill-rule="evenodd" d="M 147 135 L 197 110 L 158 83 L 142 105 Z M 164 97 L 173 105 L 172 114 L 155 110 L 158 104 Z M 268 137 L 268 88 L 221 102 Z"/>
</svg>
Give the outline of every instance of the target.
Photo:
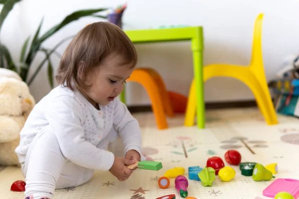
<svg viewBox="0 0 299 199">
<path fill-rule="evenodd" d="M 120 134 L 125 152 L 141 154 L 141 130 L 137 119 L 119 98 L 96 109 L 79 92 L 58 86 L 40 100 L 28 116 L 15 149 L 19 162 L 25 161 L 35 135 L 52 131 L 64 157 L 88 169 L 109 170 L 114 163 L 112 152 L 99 149 L 100 142 L 112 128 Z"/>
</svg>

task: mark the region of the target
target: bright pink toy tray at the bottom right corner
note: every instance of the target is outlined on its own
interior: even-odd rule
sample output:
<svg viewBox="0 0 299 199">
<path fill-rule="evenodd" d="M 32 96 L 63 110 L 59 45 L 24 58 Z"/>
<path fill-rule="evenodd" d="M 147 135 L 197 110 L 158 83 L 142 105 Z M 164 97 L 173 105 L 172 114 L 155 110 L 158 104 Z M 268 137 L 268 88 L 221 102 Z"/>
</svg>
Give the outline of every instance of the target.
<svg viewBox="0 0 299 199">
<path fill-rule="evenodd" d="M 295 199 L 299 197 L 299 180 L 279 178 L 271 183 L 264 191 L 263 195 L 274 198 L 279 192 L 288 192 L 294 196 Z"/>
</svg>

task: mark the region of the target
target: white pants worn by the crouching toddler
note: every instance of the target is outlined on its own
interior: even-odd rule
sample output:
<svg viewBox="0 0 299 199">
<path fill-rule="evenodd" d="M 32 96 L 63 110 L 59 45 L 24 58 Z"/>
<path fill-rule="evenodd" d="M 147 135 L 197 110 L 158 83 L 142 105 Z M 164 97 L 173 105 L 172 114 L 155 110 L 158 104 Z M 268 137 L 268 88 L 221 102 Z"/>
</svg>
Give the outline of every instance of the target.
<svg viewBox="0 0 299 199">
<path fill-rule="evenodd" d="M 97 148 L 109 149 L 115 156 L 124 157 L 123 142 L 114 128 Z M 62 155 L 57 138 L 51 131 L 35 136 L 21 168 L 26 181 L 25 196 L 33 195 L 34 199 L 51 199 L 55 189 L 82 185 L 94 174 L 94 170 L 68 161 Z"/>
</svg>

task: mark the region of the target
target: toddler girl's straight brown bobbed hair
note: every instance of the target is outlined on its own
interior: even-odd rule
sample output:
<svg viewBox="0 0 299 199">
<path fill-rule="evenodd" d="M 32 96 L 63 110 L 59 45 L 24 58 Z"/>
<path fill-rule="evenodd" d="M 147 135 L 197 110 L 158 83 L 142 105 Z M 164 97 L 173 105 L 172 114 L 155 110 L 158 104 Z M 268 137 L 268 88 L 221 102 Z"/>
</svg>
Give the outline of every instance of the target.
<svg viewBox="0 0 299 199">
<path fill-rule="evenodd" d="M 112 53 L 122 55 L 125 64 L 137 64 L 137 52 L 127 34 L 110 22 L 95 22 L 85 26 L 66 48 L 58 67 L 58 84 L 74 90 L 85 89 L 90 70 L 99 66 Z"/>
</svg>

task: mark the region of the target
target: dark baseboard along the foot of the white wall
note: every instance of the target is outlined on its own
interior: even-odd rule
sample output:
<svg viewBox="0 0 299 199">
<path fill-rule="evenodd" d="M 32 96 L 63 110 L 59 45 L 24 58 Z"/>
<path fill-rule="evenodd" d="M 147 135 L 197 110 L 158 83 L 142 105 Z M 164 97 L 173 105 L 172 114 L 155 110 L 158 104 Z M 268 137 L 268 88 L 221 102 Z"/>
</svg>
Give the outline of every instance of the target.
<svg viewBox="0 0 299 199">
<path fill-rule="evenodd" d="M 242 108 L 242 107 L 256 107 L 255 100 L 248 101 L 227 101 L 227 102 L 207 102 L 205 103 L 206 109 L 221 109 L 221 108 Z M 141 106 L 128 106 L 128 109 L 132 113 L 136 112 L 149 112 L 152 111 L 150 105 Z"/>
</svg>

